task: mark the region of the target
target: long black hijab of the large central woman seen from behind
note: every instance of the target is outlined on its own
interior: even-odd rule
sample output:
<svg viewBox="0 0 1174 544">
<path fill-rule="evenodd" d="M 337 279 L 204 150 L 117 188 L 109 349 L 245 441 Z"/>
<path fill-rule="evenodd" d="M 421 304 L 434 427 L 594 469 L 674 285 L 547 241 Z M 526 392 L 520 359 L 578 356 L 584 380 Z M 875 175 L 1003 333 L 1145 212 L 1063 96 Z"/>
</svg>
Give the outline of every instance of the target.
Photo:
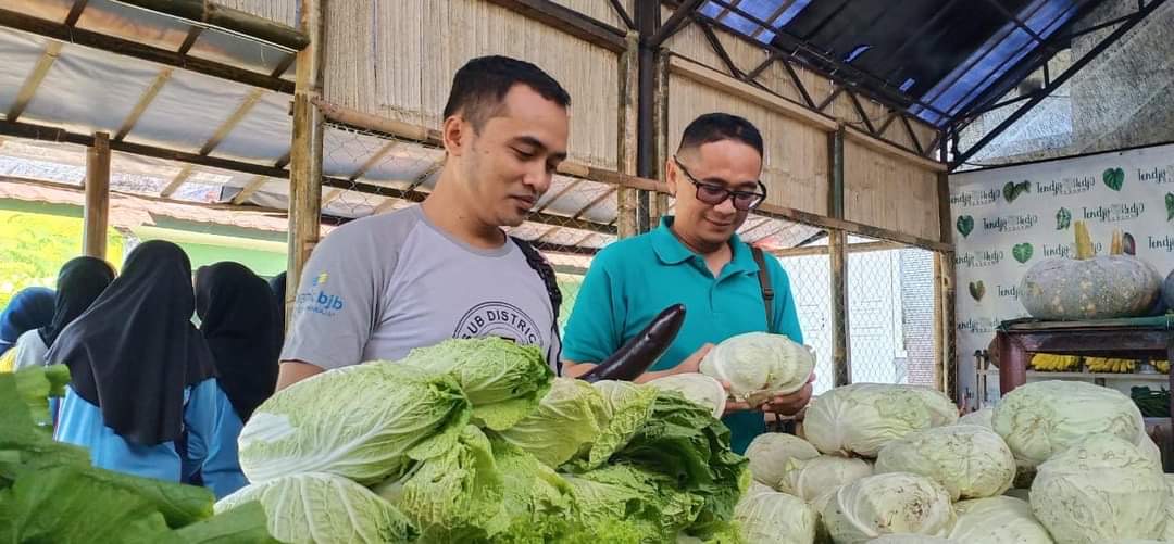
<svg viewBox="0 0 1174 544">
<path fill-rule="evenodd" d="M 211 352 L 191 325 L 195 305 L 188 256 L 169 242 L 146 242 L 46 360 L 69 367 L 73 389 L 119 436 L 140 446 L 174 441 L 184 389 L 212 375 Z"/>
</svg>

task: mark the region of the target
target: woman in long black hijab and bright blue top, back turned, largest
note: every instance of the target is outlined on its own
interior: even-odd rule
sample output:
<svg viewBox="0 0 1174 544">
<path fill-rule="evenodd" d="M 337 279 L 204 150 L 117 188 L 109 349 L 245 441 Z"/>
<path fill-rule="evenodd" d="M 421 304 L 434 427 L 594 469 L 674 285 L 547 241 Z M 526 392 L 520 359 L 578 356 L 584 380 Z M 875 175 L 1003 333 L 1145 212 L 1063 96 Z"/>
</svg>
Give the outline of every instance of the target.
<svg viewBox="0 0 1174 544">
<path fill-rule="evenodd" d="M 181 481 L 218 448 L 223 393 L 191 325 L 191 264 L 177 245 L 143 243 L 122 276 L 61 332 L 46 360 L 69 367 L 55 437 L 89 449 L 95 467 Z M 175 442 L 189 447 L 181 455 Z"/>
</svg>

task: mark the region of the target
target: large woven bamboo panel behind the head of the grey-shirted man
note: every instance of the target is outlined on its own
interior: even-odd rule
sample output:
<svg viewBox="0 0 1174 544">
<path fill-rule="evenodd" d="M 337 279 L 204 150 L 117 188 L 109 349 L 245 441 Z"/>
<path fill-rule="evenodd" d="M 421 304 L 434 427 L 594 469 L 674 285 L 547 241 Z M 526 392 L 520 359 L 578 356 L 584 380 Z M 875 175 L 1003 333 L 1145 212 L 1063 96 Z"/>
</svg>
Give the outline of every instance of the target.
<svg viewBox="0 0 1174 544">
<path fill-rule="evenodd" d="M 618 169 L 614 53 L 480 0 L 346 0 L 328 9 L 326 101 L 438 128 L 461 64 L 490 54 L 524 59 L 571 93 L 571 158 Z"/>
</svg>

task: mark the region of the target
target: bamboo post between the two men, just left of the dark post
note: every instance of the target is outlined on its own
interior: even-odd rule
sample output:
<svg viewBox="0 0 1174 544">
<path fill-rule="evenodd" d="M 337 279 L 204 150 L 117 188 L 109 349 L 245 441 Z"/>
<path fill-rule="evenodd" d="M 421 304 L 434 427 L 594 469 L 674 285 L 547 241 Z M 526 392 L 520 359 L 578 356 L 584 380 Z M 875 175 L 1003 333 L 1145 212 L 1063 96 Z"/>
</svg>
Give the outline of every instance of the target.
<svg viewBox="0 0 1174 544">
<path fill-rule="evenodd" d="M 627 45 L 628 48 L 620 56 L 620 171 L 634 176 L 640 101 L 640 34 L 629 32 Z M 621 188 L 616 193 L 616 226 L 620 238 L 636 236 L 635 189 Z"/>
</svg>

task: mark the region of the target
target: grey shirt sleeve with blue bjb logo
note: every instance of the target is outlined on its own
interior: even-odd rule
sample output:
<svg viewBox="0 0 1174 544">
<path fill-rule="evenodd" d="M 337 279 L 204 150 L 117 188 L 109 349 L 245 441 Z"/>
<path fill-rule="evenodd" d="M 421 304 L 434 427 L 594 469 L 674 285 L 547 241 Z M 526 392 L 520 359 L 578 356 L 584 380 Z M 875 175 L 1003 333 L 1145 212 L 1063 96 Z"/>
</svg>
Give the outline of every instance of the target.
<svg viewBox="0 0 1174 544">
<path fill-rule="evenodd" d="M 376 322 L 383 277 L 394 259 L 369 231 L 342 227 L 319 243 L 302 271 L 282 361 L 323 369 L 358 365 Z"/>
</svg>

